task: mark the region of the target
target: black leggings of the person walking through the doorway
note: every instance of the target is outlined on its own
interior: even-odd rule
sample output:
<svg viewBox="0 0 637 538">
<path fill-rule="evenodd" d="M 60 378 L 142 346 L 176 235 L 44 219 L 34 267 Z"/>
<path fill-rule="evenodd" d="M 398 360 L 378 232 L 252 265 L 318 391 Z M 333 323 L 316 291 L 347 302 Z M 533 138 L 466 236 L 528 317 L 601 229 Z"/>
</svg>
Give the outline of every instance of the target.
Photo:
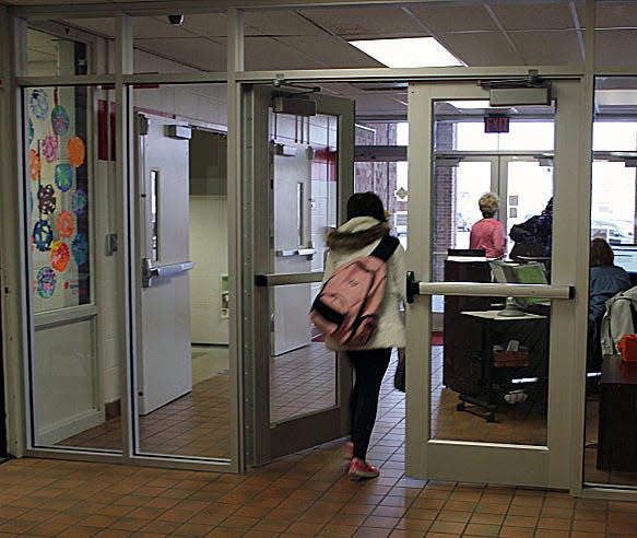
<svg viewBox="0 0 637 538">
<path fill-rule="evenodd" d="M 380 384 L 389 366 L 391 348 L 347 351 L 354 366 L 351 419 L 354 457 L 365 459 L 376 422 Z"/>
</svg>

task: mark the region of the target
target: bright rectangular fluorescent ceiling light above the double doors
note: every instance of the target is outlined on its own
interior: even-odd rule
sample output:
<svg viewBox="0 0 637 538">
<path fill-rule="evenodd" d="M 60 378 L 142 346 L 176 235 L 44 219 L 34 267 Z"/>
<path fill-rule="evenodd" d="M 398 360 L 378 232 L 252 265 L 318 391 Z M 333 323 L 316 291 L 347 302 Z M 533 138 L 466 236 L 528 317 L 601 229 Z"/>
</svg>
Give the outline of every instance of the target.
<svg viewBox="0 0 637 538">
<path fill-rule="evenodd" d="M 462 66 L 433 37 L 368 39 L 350 44 L 390 68 Z"/>
</svg>

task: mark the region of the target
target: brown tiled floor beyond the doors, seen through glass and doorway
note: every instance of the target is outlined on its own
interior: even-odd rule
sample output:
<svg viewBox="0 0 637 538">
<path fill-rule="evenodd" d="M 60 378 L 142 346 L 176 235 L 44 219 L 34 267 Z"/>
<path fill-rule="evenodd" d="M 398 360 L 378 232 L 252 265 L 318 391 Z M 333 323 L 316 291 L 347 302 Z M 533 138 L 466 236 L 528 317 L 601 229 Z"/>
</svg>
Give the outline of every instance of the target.
<svg viewBox="0 0 637 538">
<path fill-rule="evenodd" d="M 546 412 L 532 400 L 504 406 L 496 422 L 456 410 L 458 395 L 443 386 L 443 347 L 434 346 L 432 373 L 432 429 L 434 438 L 485 443 L 543 445 Z M 393 364 L 390 372 L 393 372 Z M 271 419 L 278 421 L 333 405 L 334 355 L 323 343 L 272 358 Z M 205 376 L 204 376 L 205 377 Z M 216 372 L 194 385 L 193 390 L 140 418 L 141 452 L 184 456 L 229 458 L 229 376 Z M 388 375 L 381 394 L 380 434 L 388 443 L 388 431 L 396 435 L 394 446 L 403 442 L 403 396 L 392 389 Z M 388 408 L 388 409 L 387 409 Z M 599 471 L 597 463 L 597 401 L 587 404 L 587 448 L 585 477 L 597 483 L 637 486 L 636 472 Z M 121 449 L 119 419 L 87 430 L 62 442 L 64 445 Z M 378 449 L 378 448 L 377 448 Z M 385 455 L 381 455 L 381 459 Z"/>
</svg>

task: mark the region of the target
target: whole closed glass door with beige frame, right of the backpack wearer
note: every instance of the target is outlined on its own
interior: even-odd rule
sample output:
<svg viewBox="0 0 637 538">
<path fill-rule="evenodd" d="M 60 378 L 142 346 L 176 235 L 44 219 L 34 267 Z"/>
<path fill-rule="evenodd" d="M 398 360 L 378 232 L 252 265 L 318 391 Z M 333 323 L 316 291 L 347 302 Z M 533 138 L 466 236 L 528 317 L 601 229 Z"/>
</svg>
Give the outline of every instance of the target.
<svg viewBox="0 0 637 538">
<path fill-rule="evenodd" d="M 566 432 L 573 406 L 565 396 L 573 395 L 567 378 L 577 359 L 568 347 L 568 342 L 575 347 L 571 338 L 552 338 L 564 334 L 575 304 L 569 299 L 576 273 L 573 264 L 570 271 L 566 264 L 573 242 L 567 246 L 558 235 L 563 221 L 552 213 L 553 250 L 534 259 L 529 256 L 524 264 L 510 262 L 506 255 L 496 261 L 484 254 L 453 250 L 460 243 L 458 213 L 467 211 L 468 217 L 482 219 L 475 209 L 486 189 L 499 190 L 503 222 L 514 222 L 517 213 L 512 208 L 531 204 L 530 198 L 545 196 L 546 189 L 555 191 L 556 199 L 562 196 L 564 206 L 556 203 L 556 209 L 568 210 L 568 179 L 559 184 L 558 176 L 553 182 L 551 174 L 551 180 L 539 188 L 540 182 L 524 179 L 527 175 L 516 168 L 515 160 L 507 163 L 504 159 L 515 150 L 528 152 L 530 148 L 523 144 L 535 137 L 533 150 L 561 155 L 562 167 L 556 169 L 567 171 L 573 164 L 576 148 L 553 131 L 577 120 L 577 84 L 554 84 L 553 91 L 552 104 L 536 105 L 532 114 L 529 110 L 528 117 L 534 121 L 524 118 L 523 106 L 498 109 L 509 118 L 509 130 L 487 133 L 483 117 L 494 110 L 488 109 L 486 89 L 475 84 L 411 87 L 410 206 L 425 208 L 409 213 L 408 290 L 412 302 L 408 308 L 406 463 L 411 476 L 568 486 L 573 457 Z M 474 105 L 485 103 L 480 115 L 475 106 L 464 104 L 471 100 Z M 473 112 L 464 113 L 464 108 Z M 551 131 L 551 136 L 534 134 L 538 130 Z M 554 139 L 562 145 L 553 147 Z M 443 151 L 460 150 L 503 155 L 495 165 L 463 160 L 464 164 L 453 165 L 437 157 Z M 468 165 L 476 169 L 465 177 L 463 167 Z M 482 174 L 480 166 L 484 167 Z M 459 191 L 467 192 L 468 199 L 461 200 Z M 543 199 L 541 207 L 546 202 Z M 503 223 L 492 219 L 489 225 Z M 507 224 L 505 235 L 508 229 Z M 432 346 L 432 330 L 423 330 L 433 326 L 434 295 L 444 296 L 443 346 Z M 553 360 L 555 356 L 561 361 Z"/>
</svg>

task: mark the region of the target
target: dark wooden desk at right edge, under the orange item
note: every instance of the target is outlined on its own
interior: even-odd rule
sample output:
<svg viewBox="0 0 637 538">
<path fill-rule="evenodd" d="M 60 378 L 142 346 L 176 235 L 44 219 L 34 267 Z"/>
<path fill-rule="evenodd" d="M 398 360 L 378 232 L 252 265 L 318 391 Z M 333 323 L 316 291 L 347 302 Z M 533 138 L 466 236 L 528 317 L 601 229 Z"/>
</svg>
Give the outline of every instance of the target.
<svg viewBox="0 0 637 538">
<path fill-rule="evenodd" d="M 637 363 L 620 355 L 602 362 L 598 469 L 637 471 Z"/>
</svg>

